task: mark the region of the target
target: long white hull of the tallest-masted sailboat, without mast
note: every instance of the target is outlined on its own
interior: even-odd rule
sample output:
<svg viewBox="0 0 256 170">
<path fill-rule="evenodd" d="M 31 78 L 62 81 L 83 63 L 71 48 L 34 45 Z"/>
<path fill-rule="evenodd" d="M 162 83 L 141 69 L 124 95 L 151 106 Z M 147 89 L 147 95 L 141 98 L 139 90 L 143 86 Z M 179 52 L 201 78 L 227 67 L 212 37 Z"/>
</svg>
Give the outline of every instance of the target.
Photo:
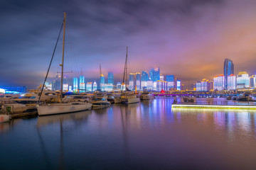
<svg viewBox="0 0 256 170">
<path fill-rule="evenodd" d="M 55 115 L 90 110 L 92 108 L 92 103 L 58 103 L 53 105 L 38 106 L 37 108 L 38 115 Z"/>
</svg>

